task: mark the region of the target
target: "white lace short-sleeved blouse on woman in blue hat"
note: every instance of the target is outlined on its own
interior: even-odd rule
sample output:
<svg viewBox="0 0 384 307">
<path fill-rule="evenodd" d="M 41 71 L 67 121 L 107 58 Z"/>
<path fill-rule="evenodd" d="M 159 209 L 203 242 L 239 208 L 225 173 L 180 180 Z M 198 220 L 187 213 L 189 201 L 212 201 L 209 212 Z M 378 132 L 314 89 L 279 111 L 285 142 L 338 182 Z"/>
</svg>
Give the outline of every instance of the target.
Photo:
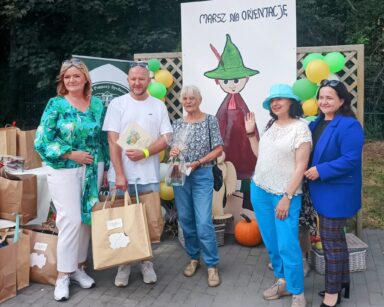
<svg viewBox="0 0 384 307">
<path fill-rule="evenodd" d="M 312 144 L 312 136 L 304 120 L 295 120 L 287 126 L 273 123 L 260 137 L 253 175 L 255 184 L 272 194 L 286 192 L 295 171 L 295 151 L 306 142 Z M 300 185 L 294 194 L 301 193 Z"/>
</svg>

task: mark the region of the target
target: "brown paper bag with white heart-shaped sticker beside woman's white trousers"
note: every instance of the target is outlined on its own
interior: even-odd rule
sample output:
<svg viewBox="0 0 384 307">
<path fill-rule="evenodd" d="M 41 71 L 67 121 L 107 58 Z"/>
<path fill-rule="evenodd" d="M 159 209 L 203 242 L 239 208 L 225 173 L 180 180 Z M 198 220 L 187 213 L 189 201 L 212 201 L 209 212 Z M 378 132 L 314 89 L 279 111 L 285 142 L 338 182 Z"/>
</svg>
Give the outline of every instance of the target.
<svg viewBox="0 0 384 307">
<path fill-rule="evenodd" d="M 30 280 L 55 285 L 57 279 L 57 229 L 28 226 L 30 235 Z"/>
</svg>

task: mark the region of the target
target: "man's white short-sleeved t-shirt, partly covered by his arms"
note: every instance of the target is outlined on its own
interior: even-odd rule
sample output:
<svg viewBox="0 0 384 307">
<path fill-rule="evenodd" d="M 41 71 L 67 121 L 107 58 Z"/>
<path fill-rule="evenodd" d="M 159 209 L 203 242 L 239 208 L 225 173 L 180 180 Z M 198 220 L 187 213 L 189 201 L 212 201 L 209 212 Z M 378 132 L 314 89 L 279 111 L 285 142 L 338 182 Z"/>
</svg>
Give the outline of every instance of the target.
<svg viewBox="0 0 384 307">
<path fill-rule="evenodd" d="M 164 103 L 149 96 L 145 100 L 135 100 L 130 94 L 117 97 L 108 106 L 103 124 L 103 131 L 122 133 L 131 124 L 137 123 L 146 130 L 154 140 L 161 135 L 172 132 L 168 111 Z M 140 161 L 131 161 L 122 151 L 122 162 L 128 183 L 158 183 L 160 181 L 159 155 L 150 156 Z M 108 181 L 115 181 L 115 172 L 111 163 Z"/>
</svg>

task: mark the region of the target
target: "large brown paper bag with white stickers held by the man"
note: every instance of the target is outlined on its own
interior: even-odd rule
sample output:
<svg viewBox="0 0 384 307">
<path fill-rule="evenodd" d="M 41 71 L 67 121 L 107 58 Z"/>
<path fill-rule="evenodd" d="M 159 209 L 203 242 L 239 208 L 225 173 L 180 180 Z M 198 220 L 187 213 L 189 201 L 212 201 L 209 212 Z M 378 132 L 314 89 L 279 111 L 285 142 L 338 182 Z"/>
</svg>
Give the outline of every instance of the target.
<svg viewBox="0 0 384 307">
<path fill-rule="evenodd" d="M 106 201 L 92 209 L 92 254 L 95 270 L 152 258 L 143 204 L 114 205 Z"/>
</svg>

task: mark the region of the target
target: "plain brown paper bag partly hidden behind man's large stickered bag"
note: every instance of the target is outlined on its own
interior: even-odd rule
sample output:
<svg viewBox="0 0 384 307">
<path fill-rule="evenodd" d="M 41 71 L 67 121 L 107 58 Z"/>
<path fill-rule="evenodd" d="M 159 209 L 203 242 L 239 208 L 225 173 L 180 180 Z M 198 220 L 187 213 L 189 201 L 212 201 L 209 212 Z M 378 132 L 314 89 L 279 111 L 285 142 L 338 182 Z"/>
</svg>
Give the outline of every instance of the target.
<svg viewBox="0 0 384 307">
<path fill-rule="evenodd" d="M 159 192 L 143 193 L 139 195 L 139 198 L 140 202 L 145 204 L 151 242 L 158 243 L 160 242 L 164 230 L 164 218 L 161 213 L 160 194 Z M 137 202 L 135 197 L 132 197 L 132 202 Z"/>
</svg>

